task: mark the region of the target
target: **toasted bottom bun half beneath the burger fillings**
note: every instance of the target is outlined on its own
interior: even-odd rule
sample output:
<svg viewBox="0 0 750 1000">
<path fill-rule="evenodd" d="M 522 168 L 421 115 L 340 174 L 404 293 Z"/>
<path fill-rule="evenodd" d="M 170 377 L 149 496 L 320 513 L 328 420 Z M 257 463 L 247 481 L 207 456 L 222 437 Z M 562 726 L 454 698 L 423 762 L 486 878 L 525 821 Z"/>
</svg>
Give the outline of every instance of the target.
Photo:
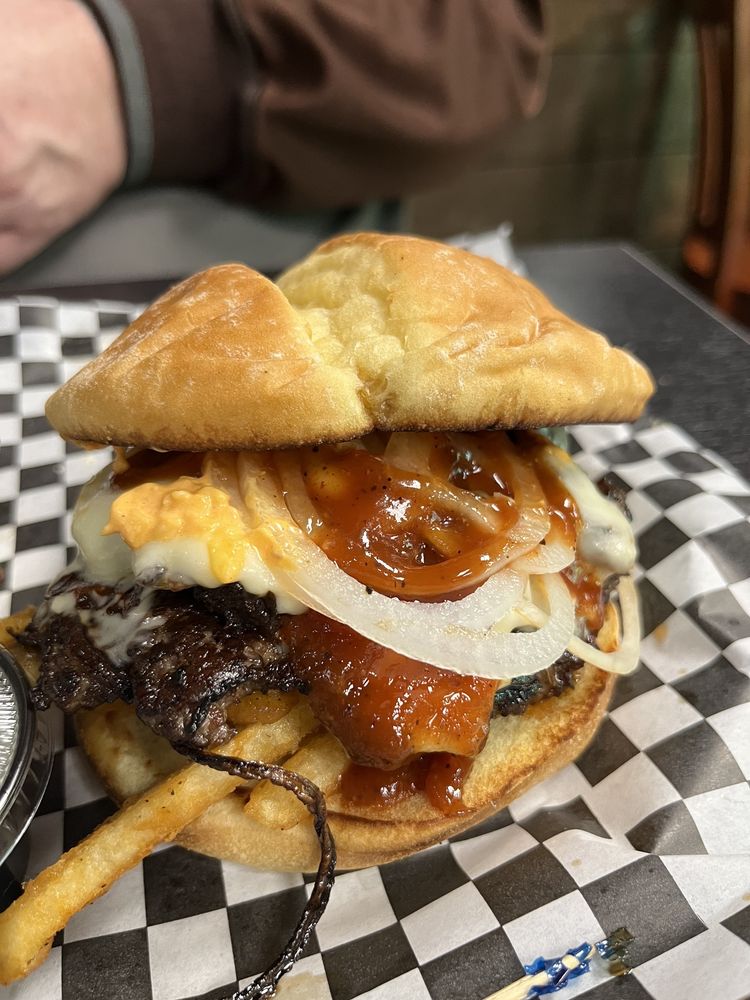
<svg viewBox="0 0 750 1000">
<path fill-rule="evenodd" d="M 613 684 L 612 674 L 586 664 L 576 686 L 559 698 L 532 705 L 522 716 L 494 719 L 465 782 L 465 811 L 460 815 L 443 815 L 421 792 L 385 808 L 355 809 L 340 795 L 327 796 L 340 868 L 383 864 L 437 844 L 565 767 L 593 737 Z M 184 758 L 122 702 L 79 713 L 77 726 L 81 745 L 118 802 L 184 764 Z M 246 799 L 247 788 L 238 789 L 186 827 L 176 843 L 253 868 L 315 871 L 319 853 L 312 823 L 287 830 L 266 826 L 243 811 Z"/>
</svg>

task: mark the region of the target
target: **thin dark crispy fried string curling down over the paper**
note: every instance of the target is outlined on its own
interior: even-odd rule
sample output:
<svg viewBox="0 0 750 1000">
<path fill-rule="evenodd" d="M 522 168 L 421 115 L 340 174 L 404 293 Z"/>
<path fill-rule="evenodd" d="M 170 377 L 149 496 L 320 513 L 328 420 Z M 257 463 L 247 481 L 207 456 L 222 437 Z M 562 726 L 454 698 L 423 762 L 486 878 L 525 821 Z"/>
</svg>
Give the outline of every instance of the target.
<svg viewBox="0 0 750 1000">
<path fill-rule="evenodd" d="M 310 898 L 292 936 L 276 961 L 252 983 L 234 993 L 231 998 L 231 1000 L 263 1000 L 265 997 L 273 996 L 281 977 L 289 972 L 304 951 L 315 925 L 325 912 L 331 894 L 336 868 L 336 845 L 328 826 L 325 798 L 312 781 L 294 771 L 287 771 L 280 764 L 264 764 L 262 761 L 206 753 L 191 746 L 180 745 L 175 749 L 196 764 L 205 764 L 214 770 L 226 771 L 246 781 L 268 780 L 274 785 L 286 788 L 293 792 L 312 814 L 315 833 L 320 842 L 320 864 Z"/>
</svg>

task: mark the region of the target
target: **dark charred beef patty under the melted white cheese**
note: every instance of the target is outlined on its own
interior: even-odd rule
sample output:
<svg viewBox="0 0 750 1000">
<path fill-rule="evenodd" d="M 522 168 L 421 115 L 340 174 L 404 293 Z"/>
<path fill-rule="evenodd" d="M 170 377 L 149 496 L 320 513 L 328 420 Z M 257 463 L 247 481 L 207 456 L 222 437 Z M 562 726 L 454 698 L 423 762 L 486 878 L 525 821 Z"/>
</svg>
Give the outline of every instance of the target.
<svg viewBox="0 0 750 1000">
<path fill-rule="evenodd" d="M 40 656 L 38 708 L 75 712 L 122 699 L 171 743 L 211 747 L 232 735 L 227 710 L 250 692 L 307 691 L 309 674 L 281 638 L 283 625 L 272 595 L 253 596 L 238 583 L 117 590 L 70 573 L 18 638 Z M 113 646 L 119 633 L 128 638 Z M 518 715 L 561 694 L 581 665 L 565 653 L 546 671 L 516 678 L 497 692 L 493 714 Z"/>
</svg>

